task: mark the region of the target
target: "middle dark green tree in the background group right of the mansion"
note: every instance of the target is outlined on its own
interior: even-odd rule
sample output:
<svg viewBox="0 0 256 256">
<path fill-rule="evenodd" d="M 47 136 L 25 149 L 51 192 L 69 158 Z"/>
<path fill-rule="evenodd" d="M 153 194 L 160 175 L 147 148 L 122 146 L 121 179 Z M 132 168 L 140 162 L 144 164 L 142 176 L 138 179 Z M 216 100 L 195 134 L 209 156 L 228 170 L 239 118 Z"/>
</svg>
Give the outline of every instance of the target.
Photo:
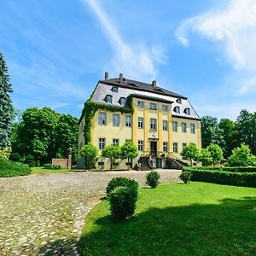
<svg viewBox="0 0 256 256">
<path fill-rule="evenodd" d="M 236 131 L 236 125 L 230 119 L 221 119 L 219 121 L 218 127 L 223 131 L 224 144 L 224 158 L 228 158 L 232 154 L 233 148 L 239 145 L 237 141 L 238 133 Z"/>
</svg>

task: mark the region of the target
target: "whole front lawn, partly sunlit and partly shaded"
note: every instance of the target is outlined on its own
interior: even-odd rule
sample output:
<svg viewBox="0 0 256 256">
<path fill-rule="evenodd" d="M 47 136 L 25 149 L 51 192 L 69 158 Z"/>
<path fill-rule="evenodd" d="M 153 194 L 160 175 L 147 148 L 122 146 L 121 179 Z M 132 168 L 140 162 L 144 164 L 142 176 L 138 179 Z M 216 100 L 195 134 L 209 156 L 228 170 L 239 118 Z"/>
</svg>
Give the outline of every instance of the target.
<svg viewBox="0 0 256 256">
<path fill-rule="evenodd" d="M 256 255 L 256 189 L 212 183 L 140 189 L 136 214 L 118 222 L 108 201 L 88 214 L 82 255 Z"/>
</svg>

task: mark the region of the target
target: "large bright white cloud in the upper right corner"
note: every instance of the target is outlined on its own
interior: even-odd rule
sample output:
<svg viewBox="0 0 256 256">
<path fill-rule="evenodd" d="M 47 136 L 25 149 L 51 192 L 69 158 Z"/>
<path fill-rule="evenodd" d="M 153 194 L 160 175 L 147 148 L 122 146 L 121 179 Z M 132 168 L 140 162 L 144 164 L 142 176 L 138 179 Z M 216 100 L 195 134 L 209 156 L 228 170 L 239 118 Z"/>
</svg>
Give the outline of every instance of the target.
<svg viewBox="0 0 256 256">
<path fill-rule="evenodd" d="M 183 20 L 175 36 L 185 47 L 189 46 L 189 32 L 198 33 L 212 41 L 224 43 L 224 55 L 236 71 L 251 77 L 241 82 L 240 93 L 256 88 L 256 1 L 230 0 L 224 9 L 209 11 Z"/>
</svg>

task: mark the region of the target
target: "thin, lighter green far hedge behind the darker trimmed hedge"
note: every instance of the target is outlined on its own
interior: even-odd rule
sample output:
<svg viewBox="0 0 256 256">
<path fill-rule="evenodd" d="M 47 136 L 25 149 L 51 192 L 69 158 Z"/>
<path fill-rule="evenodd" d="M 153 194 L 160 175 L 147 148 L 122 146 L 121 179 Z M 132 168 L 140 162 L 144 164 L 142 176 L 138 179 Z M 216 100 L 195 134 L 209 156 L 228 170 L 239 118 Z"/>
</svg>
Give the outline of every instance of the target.
<svg viewBox="0 0 256 256">
<path fill-rule="evenodd" d="M 183 170 L 190 172 L 191 170 L 201 170 L 201 171 L 220 171 L 220 172 L 256 172 L 256 166 L 196 166 L 196 167 L 183 167 Z"/>
</svg>

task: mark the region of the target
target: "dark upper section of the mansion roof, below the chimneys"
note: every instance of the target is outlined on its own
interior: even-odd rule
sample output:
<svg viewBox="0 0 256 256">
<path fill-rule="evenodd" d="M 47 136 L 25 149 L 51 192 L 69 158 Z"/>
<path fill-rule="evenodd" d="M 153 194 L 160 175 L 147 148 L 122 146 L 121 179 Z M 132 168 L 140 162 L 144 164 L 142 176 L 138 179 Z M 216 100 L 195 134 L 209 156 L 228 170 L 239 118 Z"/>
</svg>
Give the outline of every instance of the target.
<svg viewBox="0 0 256 256">
<path fill-rule="evenodd" d="M 127 89 L 133 89 L 133 90 L 143 90 L 143 91 L 153 92 L 159 95 L 172 96 L 172 97 L 177 97 L 177 98 L 182 98 L 187 100 L 187 97 L 178 95 L 177 93 L 174 93 L 170 90 L 166 90 L 159 86 L 154 87 L 152 84 L 147 84 L 147 83 L 139 82 L 136 80 L 123 79 L 123 81 L 119 83 L 119 78 L 116 78 L 116 79 L 100 80 L 99 82 L 102 84 L 108 84 L 108 85 L 113 85 L 113 86 L 123 87 Z"/>
</svg>

